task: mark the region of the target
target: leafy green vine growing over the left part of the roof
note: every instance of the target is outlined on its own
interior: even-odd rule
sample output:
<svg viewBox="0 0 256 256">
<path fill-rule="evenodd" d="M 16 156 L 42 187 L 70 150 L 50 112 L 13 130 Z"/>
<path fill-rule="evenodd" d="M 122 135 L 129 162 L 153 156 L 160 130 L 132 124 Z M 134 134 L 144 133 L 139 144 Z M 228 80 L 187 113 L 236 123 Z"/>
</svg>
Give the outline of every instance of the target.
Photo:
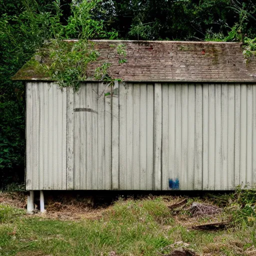
<svg viewBox="0 0 256 256">
<path fill-rule="evenodd" d="M 51 80 L 57 81 L 61 88 L 73 87 L 74 90 L 78 90 L 80 81 L 87 78 L 87 65 L 99 56 L 94 49 L 93 42 L 88 39 L 95 36 L 114 39 L 117 35 L 114 30 L 110 32 L 104 30 L 103 20 L 92 19 L 91 10 L 100 2 L 101 0 L 73 0 L 67 25 L 62 25 L 58 18 L 53 26 L 55 29 L 53 39 L 45 40 L 43 46 L 26 65 L 33 65 L 37 72 L 44 72 Z M 59 9 L 56 13 L 61 15 Z M 73 36 L 78 39 L 68 39 Z M 126 54 L 122 45 L 117 46 L 117 53 Z M 125 60 L 122 59 L 122 62 Z M 104 63 L 96 68 L 96 79 L 104 76 L 109 66 L 110 63 Z M 104 81 L 109 81 L 110 84 L 113 80 L 112 77 L 104 76 Z"/>
</svg>

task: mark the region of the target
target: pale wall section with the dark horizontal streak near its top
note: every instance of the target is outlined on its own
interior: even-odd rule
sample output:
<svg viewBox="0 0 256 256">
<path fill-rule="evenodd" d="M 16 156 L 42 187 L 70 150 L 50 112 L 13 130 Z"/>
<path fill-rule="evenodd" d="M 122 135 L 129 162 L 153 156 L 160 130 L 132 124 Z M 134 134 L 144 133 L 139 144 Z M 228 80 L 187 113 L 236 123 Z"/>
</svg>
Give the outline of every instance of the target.
<svg viewBox="0 0 256 256">
<path fill-rule="evenodd" d="M 106 90 L 103 83 L 85 83 L 74 93 L 74 189 L 111 189 L 112 102 Z"/>
</svg>

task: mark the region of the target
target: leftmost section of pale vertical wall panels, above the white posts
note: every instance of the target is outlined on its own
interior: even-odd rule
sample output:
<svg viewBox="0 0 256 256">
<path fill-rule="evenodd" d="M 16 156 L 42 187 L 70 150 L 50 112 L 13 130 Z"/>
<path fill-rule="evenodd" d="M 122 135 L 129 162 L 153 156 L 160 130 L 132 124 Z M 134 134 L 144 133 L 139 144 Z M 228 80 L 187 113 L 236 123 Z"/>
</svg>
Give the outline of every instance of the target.
<svg viewBox="0 0 256 256">
<path fill-rule="evenodd" d="M 26 189 L 66 189 L 66 89 L 26 84 Z"/>
</svg>

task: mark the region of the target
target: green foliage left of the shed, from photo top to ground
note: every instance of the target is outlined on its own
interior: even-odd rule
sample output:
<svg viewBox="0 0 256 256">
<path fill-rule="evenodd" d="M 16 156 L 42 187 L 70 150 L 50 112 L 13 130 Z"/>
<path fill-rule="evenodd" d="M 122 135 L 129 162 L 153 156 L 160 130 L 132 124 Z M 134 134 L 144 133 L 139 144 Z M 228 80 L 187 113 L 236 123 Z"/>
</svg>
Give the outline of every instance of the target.
<svg viewBox="0 0 256 256">
<path fill-rule="evenodd" d="M 0 0 L 0 187 L 24 177 L 24 84 L 10 77 L 53 35 L 55 3 Z"/>
</svg>

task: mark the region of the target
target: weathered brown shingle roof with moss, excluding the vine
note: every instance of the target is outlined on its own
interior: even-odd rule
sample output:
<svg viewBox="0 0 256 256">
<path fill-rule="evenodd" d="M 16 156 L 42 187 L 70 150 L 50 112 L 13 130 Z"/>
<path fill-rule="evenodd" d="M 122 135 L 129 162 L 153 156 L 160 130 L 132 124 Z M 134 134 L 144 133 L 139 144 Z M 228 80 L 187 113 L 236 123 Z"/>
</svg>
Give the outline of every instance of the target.
<svg viewBox="0 0 256 256">
<path fill-rule="evenodd" d="M 123 81 L 256 82 L 256 57 L 246 59 L 242 44 L 207 41 L 128 41 L 91 40 L 99 52 L 87 67 L 87 79 L 95 80 L 94 70 L 110 62 L 108 75 Z M 124 45 L 126 63 L 113 45 Z M 47 80 L 33 68 L 21 68 L 13 79 Z"/>
</svg>

